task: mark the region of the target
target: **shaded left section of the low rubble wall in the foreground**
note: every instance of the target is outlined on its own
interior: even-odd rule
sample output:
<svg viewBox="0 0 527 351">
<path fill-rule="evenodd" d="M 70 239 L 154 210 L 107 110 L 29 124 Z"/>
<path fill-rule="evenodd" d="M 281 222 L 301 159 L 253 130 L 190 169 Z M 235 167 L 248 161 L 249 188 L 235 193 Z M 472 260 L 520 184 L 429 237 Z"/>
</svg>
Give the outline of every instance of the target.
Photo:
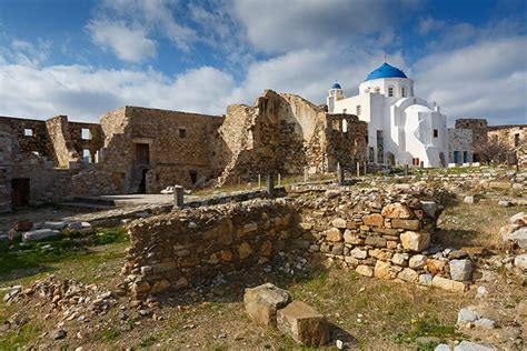
<svg viewBox="0 0 527 351">
<path fill-rule="evenodd" d="M 173 211 L 135 221 L 126 271 L 141 298 L 265 263 L 286 248 L 290 209 L 274 200 Z"/>
</svg>

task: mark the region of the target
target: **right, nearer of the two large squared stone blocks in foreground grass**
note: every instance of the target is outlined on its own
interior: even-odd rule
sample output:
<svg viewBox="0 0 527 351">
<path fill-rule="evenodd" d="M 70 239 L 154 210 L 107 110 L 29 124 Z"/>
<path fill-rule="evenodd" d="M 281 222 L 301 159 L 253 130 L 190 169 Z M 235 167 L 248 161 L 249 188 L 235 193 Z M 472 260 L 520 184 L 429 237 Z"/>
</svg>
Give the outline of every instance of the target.
<svg viewBox="0 0 527 351">
<path fill-rule="evenodd" d="M 277 327 L 282 333 L 304 345 L 321 347 L 329 342 L 329 325 L 326 318 L 301 301 L 294 301 L 278 310 Z"/>
</svg>

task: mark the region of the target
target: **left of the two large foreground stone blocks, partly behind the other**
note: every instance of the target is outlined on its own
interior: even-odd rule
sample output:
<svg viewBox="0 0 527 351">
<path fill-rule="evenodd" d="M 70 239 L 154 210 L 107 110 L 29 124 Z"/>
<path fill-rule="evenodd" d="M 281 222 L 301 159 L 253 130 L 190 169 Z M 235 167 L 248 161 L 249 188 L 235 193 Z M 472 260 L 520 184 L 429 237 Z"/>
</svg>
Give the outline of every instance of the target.
<svg viewBox="0 0 527 351">
<path fill-rule="evenodd" d="M 277 325 L 277 311 L 291 300 L 289 292 L 271 283 L 246 289 L 243 303 L 246 311 L 258 324 Z"/>
</svg>

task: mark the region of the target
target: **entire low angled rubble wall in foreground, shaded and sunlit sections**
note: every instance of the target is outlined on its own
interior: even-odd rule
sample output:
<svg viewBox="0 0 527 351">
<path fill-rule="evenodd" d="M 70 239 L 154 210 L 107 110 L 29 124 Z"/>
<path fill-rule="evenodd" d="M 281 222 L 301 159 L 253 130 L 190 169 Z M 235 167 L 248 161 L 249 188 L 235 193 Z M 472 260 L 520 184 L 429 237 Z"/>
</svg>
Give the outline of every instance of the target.
<svg viewBox="0 0 527 351">
<path fill-rule="evenodd" d="M 406 192 L 406 193 L 405 193 Z M 137 298 L 251 269 L 279 251 L 322 254 L 359 274 L 464 291 L 469 260 L 427 251 L 441 207 L 432 190 L 318 190 L 294 199 L 175 210 L 129 225 Z M 287 254 L 287 253 L 286 253 Z M 459 255 L 458 258 L 461 258 Z M 451 268 L 454 267 L 454 268 Z"/>
</svg>

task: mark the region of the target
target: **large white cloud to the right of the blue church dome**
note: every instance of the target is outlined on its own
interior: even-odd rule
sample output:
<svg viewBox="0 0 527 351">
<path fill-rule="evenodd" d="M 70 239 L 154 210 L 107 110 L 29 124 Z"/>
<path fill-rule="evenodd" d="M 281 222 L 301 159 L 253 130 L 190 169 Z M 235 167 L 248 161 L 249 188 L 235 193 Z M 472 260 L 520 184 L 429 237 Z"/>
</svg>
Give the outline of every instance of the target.
<svg viewBox="0 0 527 351">
<path fill-rule="evenodd" d="M 417 94 L 437 101 L 450 121 L 489 118 L 493 124 L 527 120 L 527 37 L 481 40 L 431 53 L 414 66 Z"/>
</svg>

